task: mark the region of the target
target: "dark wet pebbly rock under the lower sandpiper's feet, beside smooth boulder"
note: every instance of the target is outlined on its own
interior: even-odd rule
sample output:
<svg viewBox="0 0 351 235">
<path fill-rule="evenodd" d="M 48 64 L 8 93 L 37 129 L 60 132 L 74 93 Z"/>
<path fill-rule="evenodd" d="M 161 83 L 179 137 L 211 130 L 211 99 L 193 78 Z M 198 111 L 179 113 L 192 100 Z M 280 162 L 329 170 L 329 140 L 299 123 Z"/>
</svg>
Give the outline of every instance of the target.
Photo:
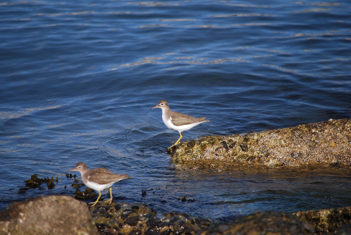
<svg viewBox="0 0 351 235">
<path fill-rule="evenodd" d="M 143 204 L 104 202 L 90 210 L 101 234 L 196 234 L 213 225 L 176 212 L 157 216 Z"/>
</svg>

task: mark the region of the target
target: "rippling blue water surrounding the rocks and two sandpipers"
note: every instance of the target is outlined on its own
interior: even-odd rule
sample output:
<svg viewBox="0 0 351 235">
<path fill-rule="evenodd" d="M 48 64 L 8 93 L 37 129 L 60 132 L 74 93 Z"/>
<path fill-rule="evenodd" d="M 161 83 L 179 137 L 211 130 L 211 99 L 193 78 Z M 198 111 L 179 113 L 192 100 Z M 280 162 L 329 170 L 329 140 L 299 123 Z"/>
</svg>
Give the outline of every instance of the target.
<svg viewBox="0 0 351 235">
<path fill-rule="evenodd" d="M 77 162 L 127 173 L 114 200 L 159 213 L 231 221 L 351 205 L 349 167 L 176 165 L 166 148 L 179 134 L 149 110 L 165 99 L 211 120 L 183 141 L 350 117 L 349 0 L 5 0 L 0 49 L 0 209 L 74 196 L 65 172 Z M 19 194 L 33 174 L 59 181 Z"/>
</svg>

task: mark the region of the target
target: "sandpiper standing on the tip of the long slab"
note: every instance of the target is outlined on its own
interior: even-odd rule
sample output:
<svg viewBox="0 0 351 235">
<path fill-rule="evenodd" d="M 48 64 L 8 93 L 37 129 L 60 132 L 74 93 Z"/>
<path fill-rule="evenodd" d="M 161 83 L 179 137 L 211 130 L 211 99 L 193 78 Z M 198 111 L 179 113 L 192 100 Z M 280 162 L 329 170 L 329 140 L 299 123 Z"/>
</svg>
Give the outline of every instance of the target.
<svg viewBox="0 0 351 235">
<path fill-rule="evenodd" d="M 185 113 L 172 111 L 168 106 L 167 101 L 163 99 L 160 100 L 158 104 L 152 107 L 151 109 L 154 108 L 162 109 L 162 120 L 165 123 L 165 125 L 171 130 L 178 131 L 180 134 L 180 137 L 177 140 L 177 142 L 168 149 L 171 149 L 173 146 L 177 145 L 180 142 L 181 137 L 183 137 L 181 135 L 181 132 L 189 130 L 194 126 L 199 125 L 200 123 L 210 122 L 210 120 L 205 120 L 205 117 L 196 118 Z"/>
</svg>

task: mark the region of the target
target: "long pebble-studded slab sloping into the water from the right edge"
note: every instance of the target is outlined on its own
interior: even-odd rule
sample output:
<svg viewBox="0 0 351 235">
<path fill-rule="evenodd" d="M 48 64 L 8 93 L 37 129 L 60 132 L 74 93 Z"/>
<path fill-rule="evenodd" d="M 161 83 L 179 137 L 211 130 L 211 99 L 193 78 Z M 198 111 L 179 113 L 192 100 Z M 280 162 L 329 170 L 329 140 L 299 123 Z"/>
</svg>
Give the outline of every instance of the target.
<svg viewBox="0 0 351 235">
<path fill-rule="evenodd" d="M 170 149 L 174 163 L 265 166 L 351 165 L 351 118 L 242 135 L 207 136 Z"/>
</svg>

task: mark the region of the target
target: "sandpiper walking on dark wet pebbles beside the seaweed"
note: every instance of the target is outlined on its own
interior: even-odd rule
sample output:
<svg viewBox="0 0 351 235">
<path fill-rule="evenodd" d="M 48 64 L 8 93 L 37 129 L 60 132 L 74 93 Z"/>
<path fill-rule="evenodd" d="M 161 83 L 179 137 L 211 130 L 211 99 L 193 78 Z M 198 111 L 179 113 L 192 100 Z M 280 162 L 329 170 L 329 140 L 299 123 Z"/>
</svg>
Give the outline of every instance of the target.
<svg viewBox="0 0 351 235">
<path fill-rule="evenodd" d="M 112 202 L 112 188 L 111 186 L 122 180 L 127 178 L 127 174 L 124 175 L 117 175 L 113 174 L 111 171 L 107 170 L 106 168 L 95 168 L 88 170 L 86 165 L 82 162 L 77 163 L 75 168 L 69 170 L 71 171 L 79 171 L 82 176 L 82 181 L 86 187 L 94 189 L 99 192 L 99 197 L 95 202 L 91 202 L 91 206 L 93 207 L 96 203 L 98 203 L 101 197 L 101 191 L 107 188 L 110 188 L 110 203 Z"/>
</svg>

